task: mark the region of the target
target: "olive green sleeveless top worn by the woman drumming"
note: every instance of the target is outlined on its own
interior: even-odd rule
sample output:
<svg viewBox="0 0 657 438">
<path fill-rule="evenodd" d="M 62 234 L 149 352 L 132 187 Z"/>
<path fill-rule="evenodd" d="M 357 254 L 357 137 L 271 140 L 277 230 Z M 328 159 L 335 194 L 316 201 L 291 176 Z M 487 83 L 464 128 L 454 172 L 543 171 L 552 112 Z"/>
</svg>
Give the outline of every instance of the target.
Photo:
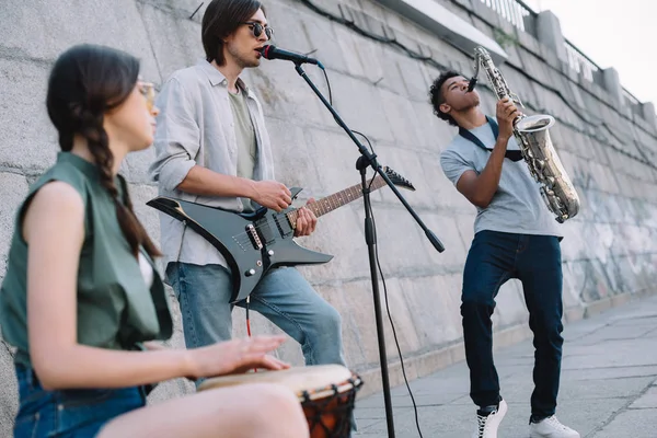
<svg viewBox="0 0 657 438">
<path fill-rule="evenodd" d="M 110 349 L 135 349 L 138 343 L 171 337 L 173 324 L 166 293 L 152 260 L 153 283 L 147 287 L 139 262 L 116 219 L 114 200 L 101 185 L 95 165 L 70 152 L 30 188 L 15 218 L 7 275 L 0 288 L 2 337 L 18 348 L 15 361 L 30 366 L 27 343 L 27 244 L 22 221 L 25 207 L 44 184 L 62 181 L 84 203 L 84 243 L 78 269 L 78 343 Z M 120 199 L 125 180 L 115 181 Z"/>
</svg>

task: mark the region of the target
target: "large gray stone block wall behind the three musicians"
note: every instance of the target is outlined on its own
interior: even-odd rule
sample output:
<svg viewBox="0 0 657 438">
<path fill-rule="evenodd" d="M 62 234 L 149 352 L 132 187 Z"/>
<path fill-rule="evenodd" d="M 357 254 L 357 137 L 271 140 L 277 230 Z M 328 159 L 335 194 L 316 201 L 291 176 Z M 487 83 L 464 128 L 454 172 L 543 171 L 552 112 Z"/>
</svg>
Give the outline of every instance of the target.
<svg viewBox="0 0 657 438">
<path fill-rule="evenodd" d="M 199 23 L 205 5 L 189 18 L 198 3 L 196 0 L 3 2 L 0 13 L 2 258 L 7 257 L 16 205 L 28 184 L 54 162 L 57 152 L 56 132 L 44 105 L 46 78 L 54 59 L 77 43 L 106 44 L 140 57 L 143 78 L 160 84 L 174 70 L 203 57 Z M 456 130 L 431 114 L 427 92 L 441 69 L 456 68 L 470 73 L 472 58 L 373 0 L 313 1 L 321 10 L 348 19 L 348 25 L 328 20 L 307 3 L 267 1 L 268 19 L 276 28 L 275 44 L 300 53 L 315 50 L 313 56 L 326 67 L 335 108 L 351 129 L 368 136 L 382 164 L 415 185 L 416 192 L 403 194 L 446 246 L 443 253 L 437 253 L 388 188 L 372 194 L 378 253 L 391 316 L 412 379 L 463 358 L 460 285 L 473 238 L 475 209 L 457 193 L 439 168 L 439 153 Z M 567 67 L 554 46 L 558 35 L 549 32 L 545 36 L 544 30 L 549 27 L 545 20 L 553 18 L 543 14 L 535 19 L 543 21 L 539 26 L 542 33 L 523 33 L 477 0 L 441 3 L 485 34 L 504 41 L 509 60 L 502 71 L 510 88 L 521 96 L 528 113 L 546 113 L 556 118 L 556 126 L 551 129 L 553 142 L 583 201 L 580 214 L 563 226 L 565 320 L 652 292 L 657 278 L 657 193 L 650 189 L 656 177 L 654 120 L 646 122 L 614 97 L 618 93 L 609 91 L 610 83 L 613 85 L 612 72 L 607 73 L 611 80 L 602 87 Z M 393 35 L 397 44 L 380 43 L 364 33 Z M 533 36 L 539 34 L 542 41 Z M 431 60 L 412 59 L 400 46 Z M 326 93 L 321 72 L 312 66 L 306 70 Z M 264 61 L 260 69 L 245 72 L 244 79 L 263 101 L 281 182 L 304 187 L 303 198 L 319 198 L 359 182 L 355 171 L 356 147 L 291 64 Z M 618 82 L 618 76 L 615 79 Z M 480 89 L 483 107 L 493 113 L 495 99 L 484 82 L 481 81 Z M 157 212 L 145 206 L 157 193 L 146 172 L 152 159 L 152 149 L 136 153 L 123 171 L 131 183 L 138 215 L 149 232 L 159 237 Z M 347 359 L 365 377 L 367 393 L 380 389 L 380 374 L 362 219 L 362 201 L 354 201 L 322 217 L 316 232 L 299 242 L 335 255 L 326 265 L 301 269 L 318 292 L 342 313 Z M 0 264 L 0 275 L 4 268 L 4 263 Z M 497 302 L 496 345 L 528 336 L 519 284 L 509 281 Z M 176 318 L 172 345 L 182 347 L 180 314 L 173 297 L 172 308 Z M 388 316 L 383 316 L 391 383 L 397 384 L 402 382 L 399 355 Z M 235 335 L 244 335 L 244 325 L 243 312 L 235 311 Z M 277 330 L 257 315 L 252 327 L 255 333 Z M 279 354 L 295 365 L 302 364 L 300 349 L 293 342 L 287 343 Z M 3 382 L 0 428 L 1 435 L 7 436 L 16 405 L 9 348 L 0 349 L 0 378 Z M 183 380 L 169 382 L 153 393 L 152 401 L 189 390 Z"/>
</svg>

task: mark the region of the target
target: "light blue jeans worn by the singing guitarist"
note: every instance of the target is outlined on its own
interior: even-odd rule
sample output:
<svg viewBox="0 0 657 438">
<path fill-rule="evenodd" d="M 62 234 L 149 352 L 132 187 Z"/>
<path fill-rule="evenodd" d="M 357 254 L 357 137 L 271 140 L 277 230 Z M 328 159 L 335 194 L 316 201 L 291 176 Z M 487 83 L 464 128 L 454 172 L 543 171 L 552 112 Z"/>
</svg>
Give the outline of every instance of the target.
<svg viewBox="0 0 657 438">
<path fill-rule="evenodd" d="M 176 262 L 169 264 L 166 277 L 181 304 L 187 348 L 231 338 L 232 279 L 227 268 Z M 245 302 L 237 306 L 244 307 Z M 306 365 L 346 366 L 339 313 L 296 268 L 269 270 L 251 293 L 250 309 L 297 341 Z"/>
</svg>

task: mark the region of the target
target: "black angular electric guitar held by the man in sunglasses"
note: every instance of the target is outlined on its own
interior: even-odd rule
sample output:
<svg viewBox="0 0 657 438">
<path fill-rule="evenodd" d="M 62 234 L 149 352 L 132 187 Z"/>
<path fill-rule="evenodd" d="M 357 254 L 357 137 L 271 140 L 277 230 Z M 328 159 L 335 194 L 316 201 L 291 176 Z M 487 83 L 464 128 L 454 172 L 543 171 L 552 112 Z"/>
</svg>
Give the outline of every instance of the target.
<svg viewBox="0 0 657 438">
<path fill-rule="evenodd" d="M 383 170 L 394 185 L 415 191 L 413 184 L 392 169 Z M 368 182 L 370 191 L 385 185 L 379 174 Z M 290 192 L 292 199 L 296 199 L 301 188 L 292 187 Z M 362 186 L 356 184 L 306 207 L 319 218 L 361 196 Z M 293 241 L 297 208 L 276 212 L 261 207 L 254 212 L 238 214 L 164 196 L 146 204 L 183 221 L 219 250 L 233 274 L 231 303 L 246 299 L 267 270 L 276 266 L 315 265 L 333 258 L 332 255 L 299 246 Z"/>
</svg>

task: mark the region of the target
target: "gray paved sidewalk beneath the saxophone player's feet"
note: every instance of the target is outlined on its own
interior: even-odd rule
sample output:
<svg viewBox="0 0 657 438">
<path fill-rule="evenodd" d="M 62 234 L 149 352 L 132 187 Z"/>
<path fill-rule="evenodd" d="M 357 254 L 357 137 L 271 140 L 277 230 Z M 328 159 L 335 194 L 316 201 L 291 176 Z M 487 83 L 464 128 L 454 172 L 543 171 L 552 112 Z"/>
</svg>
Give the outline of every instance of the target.
<svg viewBox="0 0 657 438">
<path fill-rule="evenodd" d="M 657 297 L 566 324 L 556 415 L 583 438 L 657 437 Z M 499 438 L 528 438 L 533 346 L 525 341 L 495 353 L 509 411 Z M 468 367 L 460 362 L 411 382 L 424 438 L 470 438 L 475 408 Z M 395 437 L 419 437 L 408 391 L 391 390 Z M 383 395 L 356 401 L 356 437 L 388 437 Z"/>
</svg>

